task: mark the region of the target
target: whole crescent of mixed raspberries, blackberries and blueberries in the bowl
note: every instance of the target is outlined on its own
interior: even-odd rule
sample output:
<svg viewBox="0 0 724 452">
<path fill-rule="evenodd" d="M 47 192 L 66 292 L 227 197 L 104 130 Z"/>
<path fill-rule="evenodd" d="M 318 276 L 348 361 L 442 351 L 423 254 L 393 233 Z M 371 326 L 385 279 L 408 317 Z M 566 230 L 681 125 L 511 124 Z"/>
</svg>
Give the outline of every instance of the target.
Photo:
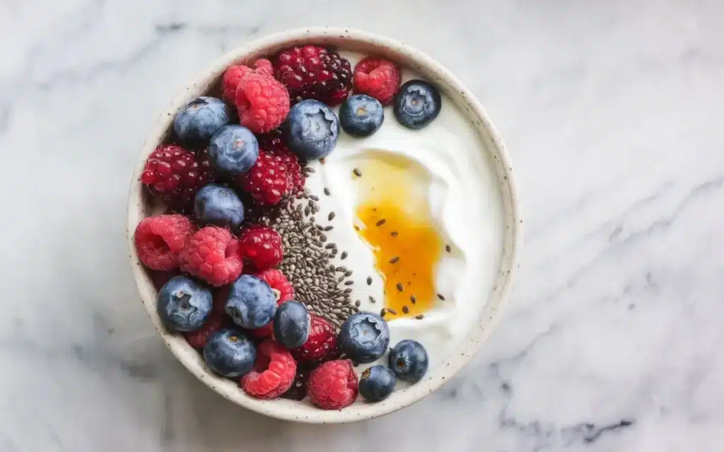
<svg viewBox="0 0 724 452">
<path fill-rule="evenodd" d="M 374 362 L 389 349 L 385 320 L 358 312 L 337 333 L 295 300 L 293 281 L 277 268 L 285 257 L 279 232 L 251 221 L 300 196 L 303 166 L 329 155 L 340 129 L 375 133 L 391 103 L 405 127 L 432 121 L 437 90 L 421 80 L 400 87 L 400 78 L 383 59 L 352 69 L 327 48 L 288 48 L 229 67 L 222 98 L 189 102 L 174 119 L 173 144 L 148 156 L 140 182 L 167 213 L 138 224 L 135 246 L 153 270 L 159 317 L 250 396 L 309 396 L 321 409 L 342 409 L 358 393 L 380 401 L 397 379 L 414 383 L 426 372 L 424 347 L 401 341 L 389 367 L 369 367 L 358 380 L 353 362 Z M 337 116 L 330 107 L 339 104 Z"/>
</svg>

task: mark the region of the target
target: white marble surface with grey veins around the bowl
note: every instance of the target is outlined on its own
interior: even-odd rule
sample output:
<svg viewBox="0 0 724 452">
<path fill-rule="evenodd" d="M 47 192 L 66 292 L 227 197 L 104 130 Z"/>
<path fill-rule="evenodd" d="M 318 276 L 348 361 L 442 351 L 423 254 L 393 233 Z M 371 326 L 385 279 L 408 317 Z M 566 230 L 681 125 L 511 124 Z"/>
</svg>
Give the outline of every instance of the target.
<svg viewBox="0 0 724 452">
<path fill-rule="evenodd" d="M 723 17 L 717 0 L 0 0 L 0 451 L 721 451 Z M 476 361 L 357 425 L 266 419 L 187 375 L 125 247 L 127 182 L 174 90 L 305 25 L 450 67 L 505 137 L 526 218 Z"/>
</svg>

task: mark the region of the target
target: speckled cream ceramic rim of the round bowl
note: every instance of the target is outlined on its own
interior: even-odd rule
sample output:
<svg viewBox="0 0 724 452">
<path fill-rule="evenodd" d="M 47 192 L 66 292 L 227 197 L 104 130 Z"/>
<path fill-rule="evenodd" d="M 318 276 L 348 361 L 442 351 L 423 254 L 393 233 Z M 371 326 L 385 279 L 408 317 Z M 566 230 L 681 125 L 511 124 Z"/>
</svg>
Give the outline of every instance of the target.
<svg viewBox="0 0 724 452">
<path fill-rule="evenodd" d="M 282 48 L 303 44 L 318 44 L 322 46 L 334 46 L 350 51 L 358 51 L 362 54 L 376 54 L 392 61 L 397 61 L 403 67 L 408 67 L 421 74 L 426 80 L 430 80 L 437 87 L 446 93 L 458 108 L 468 117 L 473 127 L 479 131 L 481 142 L 489 153 L 490 161 L 494 166 L 500 187 L 500 198 L 504 210 L 505 223 L 503 229 L 502 257 L 499 262 L 491 263 L 497 265 L 497 281 L 488 294 L 483 294 L 481 299 L 486 299 L 484 310 L 481 313 L 476 325 L 468 334 L 463 346 L 458 353 L 443 360 L 442 363 L 431 367 L 426 377 L 416 385 L 407 388 L 397 389 L 390 398 L 377 404 L 369 404 L 360 397 L 352 406 L 342 411 L 324 411 L 312 406 L 308 401 L 274 400 L 261 401 L 247 396 L 235 381 L 219 378 L 206 367 L 203 358 L 197 351 L 192 349 L 180 334 L 167 332 L 161 325 L 159 315 L 156 313 L 156 289 L 149 278 L 143 265 L 138 260 L 133 244 L 133 233 L 136 225 L 147 216 L 151 215 L 153 205 L 143 186 L 139 182 L 140 172 L 143 170 L 144 162 L 148 155 L 157 145 L 164 142 L 173 130 L 173 119 L 186 103 L 198 95 L 204 95 L 210 90 L 217 89 L 219 80 L 224 69 L 232 64 L 254 61 L 261 56 L 269 56 Z M 235 404 L 244 406 L 255 412 L 299 422 L 334 423 L 354 422 L 362 419 L 370 419 L 395 412 L 405 406 L 415 403 L 424 398 L 432 391 L 435 391 L 447 380 L 450 380 L 468 361 L 476 354 L 484 344 L 498 319 L 505 297 L 510 290 L 513 270 L 515 270 L 516 256 L 520 242 L 521 219 L 518 213 L 518 203 L 513 184 L 513 167 L 510 163 L 505 146 L 498 136 L 494 127 L 485 114 L 484 109 L 476 100 L 475 96 L 455 78 L 450 72 L 442 67 L 437 61 L 426 54 L 407 46 L 397 40 L 384 38 L 372 33 L 364 33 L 347 28 L 317 27 L 291 30 L 266 38 L 255 40 L 246 46 L 240 47 L 224 55 L 221 59 L 211 64 L 211 67 L 204 70 L 193 82 L 186 86 L 179 95 L 166 108 L 166 111 L 156 120 L 151 136 L 143 145 L 143 150 L 138 158 L 133 179 L 130 186 L 128 199 L 128 229 L 127 240 L 130 249 L 130 260 L 133 274 L 143 306 L 146 307 L 148 315 L 151 316 L 153 325 L 164 339 L 172 353 L 182 364 L 209 388 L 220 393 L 222 396 L 233 401 Z"/>
</svg>

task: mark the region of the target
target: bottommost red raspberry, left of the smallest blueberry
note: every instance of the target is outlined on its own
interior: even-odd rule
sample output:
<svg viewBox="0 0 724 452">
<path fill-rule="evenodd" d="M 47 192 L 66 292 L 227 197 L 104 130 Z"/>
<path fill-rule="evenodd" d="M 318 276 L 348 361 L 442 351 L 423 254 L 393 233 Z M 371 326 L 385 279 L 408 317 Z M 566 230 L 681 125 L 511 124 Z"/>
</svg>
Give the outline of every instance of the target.
<svg viewBox="0 0 724 452">
<path fill-rule="evenodd" d="M 321 409 L 342 409 L 357 398 L 357 374 L 349 359 L 320 364 L 309 375 L 307 392 Z"/>
</svg>

